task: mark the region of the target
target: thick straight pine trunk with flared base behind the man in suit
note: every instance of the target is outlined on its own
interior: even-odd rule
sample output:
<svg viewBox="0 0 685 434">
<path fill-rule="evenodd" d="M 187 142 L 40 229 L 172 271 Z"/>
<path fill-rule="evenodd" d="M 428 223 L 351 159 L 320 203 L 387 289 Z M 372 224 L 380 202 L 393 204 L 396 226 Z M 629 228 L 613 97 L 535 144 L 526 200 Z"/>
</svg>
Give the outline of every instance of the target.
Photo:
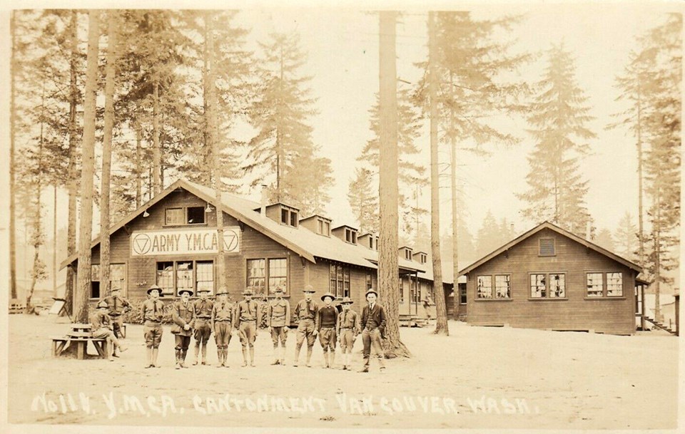
<svg viewBox="0 0 685 434">
<path fill-rule="evenodd" d="M 379 302 L 385 306 L 387 325 L 383 341 L 387 357 L 410 356 L 400 340 L 400 276 L 398 267 L 397 207 L 397 66 L 395 26 L 397 12 L 380 12 L 380 134 L 379 134 L 379 210 L 378 248 Z"/>
</svg>

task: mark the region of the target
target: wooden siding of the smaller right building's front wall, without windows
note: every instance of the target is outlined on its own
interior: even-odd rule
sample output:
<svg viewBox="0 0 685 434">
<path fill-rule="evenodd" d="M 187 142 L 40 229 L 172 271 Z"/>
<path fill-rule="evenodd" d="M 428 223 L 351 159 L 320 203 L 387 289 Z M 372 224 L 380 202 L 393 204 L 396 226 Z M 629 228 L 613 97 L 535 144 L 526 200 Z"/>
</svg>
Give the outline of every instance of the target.
<svg viewBox="0 0 685 434">
<path fill-rule="evenodd" d="M 554 238 L 554 256 L 539 255 L 541 238 Z M 531 299 L 529 274 L 536 272 L 566 274 L 567 297 Z M 588 299 L 587 272 L 621 272 L 623 296 Z M 511 299 L 476 299 L 477 276 L 502 273 L 511 274 Z M 467 321 L 474 325 L 509 324 L 533 329 L 634 334 L 635 274 L 633 269 L 604 254 L 551 229 L 543 229 L 471 270 L 467 283 Z M 604 285 L 606 291 L 606 281 Z"/>
</svg>

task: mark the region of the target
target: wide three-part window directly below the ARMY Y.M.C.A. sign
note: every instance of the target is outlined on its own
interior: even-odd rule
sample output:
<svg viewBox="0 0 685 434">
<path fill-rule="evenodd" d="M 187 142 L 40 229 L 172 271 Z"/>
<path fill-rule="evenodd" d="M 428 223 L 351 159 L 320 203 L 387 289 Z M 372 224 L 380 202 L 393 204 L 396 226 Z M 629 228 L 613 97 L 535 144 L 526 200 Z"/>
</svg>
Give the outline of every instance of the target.
<svg viewBox="0 0 685 434">
<path fill-rule="evenodd" d="M 157 262 L 157 286 L 162 294 L 176 295 L 181 289 L 190 289 L 198 295 L 198 289 L 214 293 L 213 261 Z"/>
</svg>

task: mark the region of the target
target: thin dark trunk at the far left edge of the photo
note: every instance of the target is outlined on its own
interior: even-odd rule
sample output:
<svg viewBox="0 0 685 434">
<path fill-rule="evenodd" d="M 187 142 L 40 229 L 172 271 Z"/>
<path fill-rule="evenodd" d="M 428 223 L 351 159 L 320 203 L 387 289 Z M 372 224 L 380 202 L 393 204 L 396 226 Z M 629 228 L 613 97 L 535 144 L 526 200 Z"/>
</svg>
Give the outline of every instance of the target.
<svg viewBox="0 0 685 434">
<path fill-rule="evenodd" d="M 16 11 L 12 11 L 12 17 L 10 21 L 12 33 L 12 51 L 10 60 L 10 79 L 11 79 L 11 90 L 10 90 L 10 133 L 9 133 L 9 287 L 10 287 L 10 297 L 11 299 L 16 299 L 16 219 L 15 219 L 15 198 L 14 198 L 14 136 L 16 135 L 16 108 L 14 107 L 14 94 L 16 93 L 16 58 L 15 53 L 19 49 L 17 48 L 16 41 Z"/>
</svg>

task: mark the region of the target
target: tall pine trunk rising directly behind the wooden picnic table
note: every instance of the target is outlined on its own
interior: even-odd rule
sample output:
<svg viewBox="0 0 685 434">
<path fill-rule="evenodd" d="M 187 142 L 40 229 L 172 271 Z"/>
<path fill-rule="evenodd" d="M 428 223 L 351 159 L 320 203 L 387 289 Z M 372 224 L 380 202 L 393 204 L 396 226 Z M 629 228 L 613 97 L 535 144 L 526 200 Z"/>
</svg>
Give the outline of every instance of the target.
<svg viewBox="0 0 685 434">
<path fill-rule="evenodd" d="M 83 95 L 83 153 L 81 167 L 81 202 L 78 217 L 78 282 L 74 298 L 74 321 L 88 322 L 88 298 L 91 292 L 91 234 L 93 224 L 93 172 L 95 153 L 96 92 L 98 90 L 99 14 L 88 11 L 88 56 L 86 91 Z"/>
</svg>

